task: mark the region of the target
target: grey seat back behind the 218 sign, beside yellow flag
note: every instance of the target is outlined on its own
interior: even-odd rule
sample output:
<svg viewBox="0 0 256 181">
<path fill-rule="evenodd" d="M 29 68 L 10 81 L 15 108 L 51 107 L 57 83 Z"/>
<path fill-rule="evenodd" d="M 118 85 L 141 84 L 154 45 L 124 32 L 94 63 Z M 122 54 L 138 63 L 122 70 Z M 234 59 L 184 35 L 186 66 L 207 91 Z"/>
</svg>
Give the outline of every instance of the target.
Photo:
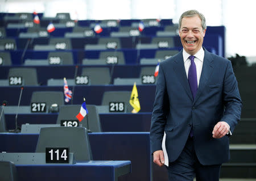
<svg viewBox="0 0 256 181">
<path fill-rule="evenodd" d="M 123 102 L 125 103 L 125 112 L 131 112 L 130 101 L 131 91 L 106 91 L 104 92 L 101 105 L 109 106 L 112 102 Z"/>
</svg>

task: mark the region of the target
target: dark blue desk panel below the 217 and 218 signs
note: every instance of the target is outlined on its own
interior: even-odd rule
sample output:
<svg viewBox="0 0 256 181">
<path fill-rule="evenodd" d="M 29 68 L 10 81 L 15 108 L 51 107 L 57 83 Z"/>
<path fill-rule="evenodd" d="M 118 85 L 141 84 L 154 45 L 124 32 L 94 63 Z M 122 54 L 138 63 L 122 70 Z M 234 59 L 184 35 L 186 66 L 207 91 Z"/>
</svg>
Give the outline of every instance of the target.
<svg viewBox="0 0 256 181">
<path fill-rule="evenodd" d="M 79 110 L 77 110 L 78 112 Z M 100 113 L 102 132 L 149 132 L 151 112 L 142 113 Z M 6 127 L 15 129 L 16 110 L 5 113 Z M 22 124 L 56 124 L 57 113 L 19 113 L 18 127 Z"/>
</svg>

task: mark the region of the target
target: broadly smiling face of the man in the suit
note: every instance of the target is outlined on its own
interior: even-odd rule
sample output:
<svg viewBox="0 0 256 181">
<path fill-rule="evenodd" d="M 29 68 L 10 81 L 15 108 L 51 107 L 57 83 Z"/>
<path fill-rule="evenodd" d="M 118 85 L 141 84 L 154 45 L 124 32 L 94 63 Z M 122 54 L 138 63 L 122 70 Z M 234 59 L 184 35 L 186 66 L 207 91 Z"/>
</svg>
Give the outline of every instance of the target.
<svg viewBox="0 0 256 181">
<path fill-rule="evenodd" d="M 181 20 L 179 30 L 181 44 L 184 50 L 189 54 L 196 54 L 202 47 L 205 30 L 201 25 L 199 16 L 184 17 Z"/>
</svg>

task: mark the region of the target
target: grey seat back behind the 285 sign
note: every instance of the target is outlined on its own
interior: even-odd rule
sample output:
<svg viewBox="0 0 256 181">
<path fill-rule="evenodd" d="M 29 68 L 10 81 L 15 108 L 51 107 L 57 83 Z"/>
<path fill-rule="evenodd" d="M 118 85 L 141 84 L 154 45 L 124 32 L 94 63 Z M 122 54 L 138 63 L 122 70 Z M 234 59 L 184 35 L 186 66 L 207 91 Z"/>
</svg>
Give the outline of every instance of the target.
<svg viewBox="0 0 256 181">
<path fill-rule="evenodd" d="M 110 71 L 109 68 L 83 68 L 82 76 L 88 76 L 90 85 L 109 85 Z"/>
</svg>

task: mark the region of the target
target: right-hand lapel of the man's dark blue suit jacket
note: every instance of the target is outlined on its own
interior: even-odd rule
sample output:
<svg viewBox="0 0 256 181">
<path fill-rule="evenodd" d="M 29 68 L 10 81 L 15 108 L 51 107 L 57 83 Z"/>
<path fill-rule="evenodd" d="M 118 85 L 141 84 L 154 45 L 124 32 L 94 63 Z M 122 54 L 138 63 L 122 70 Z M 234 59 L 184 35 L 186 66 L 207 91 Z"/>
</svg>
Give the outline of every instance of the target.
<svg viewBox="0 0 256 181">
<path fill-rule="evenodd" d="M 199 98 L 201 92 L 204 90 L 204 87 L 207 84 L 207 81 L 208 81 L 210 75 L 212 75 L 213 68 L 214 68 L 213 58 L 210 55 L 210 53 L 204 48 L 203 68 L 202 68 L 202 72 L 201 72 L 201 76 L 200 76 L 199 87 L 196 92 L 196 98 L 195 98 L 194 102 L 196 102 L 196 100 Z"/>
</svg>

